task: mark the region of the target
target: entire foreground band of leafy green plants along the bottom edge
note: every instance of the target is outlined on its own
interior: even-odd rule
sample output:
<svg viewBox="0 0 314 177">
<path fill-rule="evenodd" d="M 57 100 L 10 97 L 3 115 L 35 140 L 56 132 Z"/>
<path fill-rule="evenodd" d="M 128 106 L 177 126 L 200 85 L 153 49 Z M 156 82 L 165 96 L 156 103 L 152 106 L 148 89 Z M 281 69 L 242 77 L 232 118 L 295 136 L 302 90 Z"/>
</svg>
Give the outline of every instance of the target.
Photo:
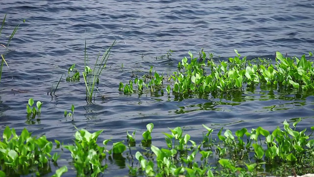
<svg viewBox="0 0 314 177">
<path fill-rule="evenodd" d="M 71 152 L 77 176 L 97 177 L 108 168 L 107 159 L 125 161 L 123 155 L 126 154 L 130 162 L 129 175 L 134 177 L 285 177 L 314 172 L 314 126 L 310 133 L 307 129 L 296 131 L 300 121 L 301 118 L 293 122 L 291 128 L 285 120 L 283 129 L 277 127 L 272 132 L 262 127 L 242 128 L 235 132 L 221 128 L 216 135 L 213 135 L 213 129 L 203 124 L 206 132 L 203 132 L 201 142 L 192 141 L 181 127 L 169 128 L 169 133 L 163 133 L 163 147 L 166 148 L 152 145 L 154 124 L 149 123 L 138 146 L 142 148 L 135 156 L 131 154 L 131 148 L 136 146 L 135 131 L 132 135 L 127 132 L 128 146 L 124 141 L 116 142 L 112 143 L 110 150 L 107 145 L 111 140 L 104 140 L 99 145 L 98 137 L 103 130 L 94 133 L 78 130 L 73 145 L 63 146 L 57 140 L 54 142 L 56 148 L 63 146 Z M 60 157 L 57 153 L 50 154 L 53 145 L 45 136 L 36 139 L 26 129 L 18 136 L 13 128 L 6 127 L 2 138 L 2 176 L 44 175 L 49 173 L 47 164 L 51 161 L 56 165 Z M 66 166 L 59 168 L 53 177 L 60 177 L 67 169 Z"/>
</svg>

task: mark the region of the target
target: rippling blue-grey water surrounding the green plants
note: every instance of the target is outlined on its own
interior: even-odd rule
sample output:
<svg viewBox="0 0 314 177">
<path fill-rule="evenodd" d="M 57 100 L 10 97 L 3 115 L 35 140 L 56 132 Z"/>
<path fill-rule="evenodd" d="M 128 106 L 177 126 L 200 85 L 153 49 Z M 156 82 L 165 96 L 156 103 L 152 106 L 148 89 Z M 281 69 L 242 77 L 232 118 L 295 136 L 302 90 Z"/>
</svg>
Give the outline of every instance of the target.
<svg viewBox="0 0 314 177">
<path fill-rule="evenodd" d="M 8 14 L 0 43 L 5 44 L 21 24 L 9 46 L 12 51 L 5 56 L 10 69 L 4 68 L 0 83 L 0 130 L 6 125 L 17 131 L 26 127 L 34 135 L 68 144 L 76 126 L 104 129 L 100 140 L 117 142 L 126 140 L 127 130 L 137 130 L 139 140 L 146 124 L 153 122 L 153 144 L 164 146 L 161 132 L 167 127 L 182 126 L 195 141 L 205 131 L 202 123 L 233 131 L 257 126 L 272 130 L 285 119 L 301 117 L 299 128 L 309 128 L 314 125 L 313 94 L 261 86 L 180 101 L 157 94 L 127 96 L 118 92 L 118 85 L 128 82 L 132 71 L 142 75 L 139 71 L 148 71 L 151 65 L 160 73 L 173 71 L 189 50 L 197 55 L 201 48 L 221 59 L 235 56 L 234 49 L 249 58 L 273 59 L 275 51 L 301 56 L 314 49 L 313 9 L 312 0 L 0 0 L 1 18 Z M 83 68 L 85 39 L 92 63 L 103 47 L 120 41 L 100 78 L 103 97 L 87 104 L 82 79 L 71 83 L 63 79 L 56 96 L 47 95 L 73 63 Z M 171 59 L 161 59 L 169 49 L 175 51 Z M 40 119 L 26 118 L 30 97 L 44 102 Z M 72 104 L 74 121 L 63 117 Z M 70 154 L 65 151 L 62 158 L 59 166 L 68 164 Z M 127 174 L 127 169 L 115 171 L 128 168 L 126 164 L 115 163 L 108 173 Z M 70 169 L 66 176 L 73 173 Z"/>
</svg>

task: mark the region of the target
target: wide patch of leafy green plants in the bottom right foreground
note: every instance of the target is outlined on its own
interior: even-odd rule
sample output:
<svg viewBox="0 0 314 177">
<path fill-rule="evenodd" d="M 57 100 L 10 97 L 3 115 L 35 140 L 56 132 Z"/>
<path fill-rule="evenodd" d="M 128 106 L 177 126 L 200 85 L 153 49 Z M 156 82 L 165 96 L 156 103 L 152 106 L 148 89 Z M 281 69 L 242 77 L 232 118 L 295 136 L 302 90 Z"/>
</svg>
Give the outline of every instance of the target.
<svg viewBox="0 0 314 177">
<path fill-rule="evenodd" d="M 300 120 L 292 124 L 294 129 L 284 121 L 284 130 L 277 127 L 272 133 L 262 127 L 252 129 L 251 132 L 242 128 L 234 136 L 229 129 L 222 133 L 221 128 L 217 133 L 218 140 L 212 139 L 213 129 L 203 125 L 207 133 L 203 135 L 203 141 L 198 146 L 190 140 L 188 134 L 183 136 L 181 127 L 176 127 L 170 129 L 171 134 L 164 133 L 167 149 L 151 146 L 153 155 L 146 158 L 136 152 L 140 169 L 133 168 L 130 171 L 141 170 L 138 175 L 157 177 L 252 177 L 262 175 L 262 165 L 276 165 L 282 167 L 282 170 L 273 168 L 268 169 L 268 172 L 281 176 L 293 173 L 287 169 L 294 169 L 297 174 L 313 173 L 314 140 L 310 140 L 310 136 L 314 127 L 311 127 L 310 135 L 305 134 L 306 129 L 295 131 Z M 191 143 L 190 147 L 187 146 L 188 142 Z M 197 156 L 201 158 L 198 159 Z M 216 156 L 218 159 L 214 159 Z M 155 160 L 151 159 L 154 157 Z M 210 164 L 209 160 L 214 162 Z"/>
</svg>

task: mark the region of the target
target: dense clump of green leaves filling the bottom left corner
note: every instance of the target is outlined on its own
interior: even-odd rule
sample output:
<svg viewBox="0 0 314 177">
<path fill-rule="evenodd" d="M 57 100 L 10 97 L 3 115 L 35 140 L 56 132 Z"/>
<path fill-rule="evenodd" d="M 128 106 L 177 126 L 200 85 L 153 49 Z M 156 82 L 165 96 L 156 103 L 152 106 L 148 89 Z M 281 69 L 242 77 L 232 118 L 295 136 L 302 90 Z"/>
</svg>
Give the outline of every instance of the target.
<svg viewBox="0 0 314 177">
<path fill-rule="evenodd" d="M 46 136 L 31 136 L 26 128 L 18 136 L 15 129 L 4 129 L 0 142 L 0 170 L 9 174 L 27 175 L 36 173 L 45 175 L 51 172 L 50 161 L 56 163 L 58 154 L 50 154 L 52 142 Z"/>
</svg>

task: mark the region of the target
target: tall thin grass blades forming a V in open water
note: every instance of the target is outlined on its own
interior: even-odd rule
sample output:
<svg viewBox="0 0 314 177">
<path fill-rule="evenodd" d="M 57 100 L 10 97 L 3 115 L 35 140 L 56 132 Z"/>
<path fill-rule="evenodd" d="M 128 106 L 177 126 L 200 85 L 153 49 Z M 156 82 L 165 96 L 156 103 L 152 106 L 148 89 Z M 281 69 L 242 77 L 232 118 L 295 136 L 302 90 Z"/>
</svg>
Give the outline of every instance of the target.
<svg viewBox="0 0 314 177">
<path fill-rule="evenodd" d="M 110 51 L 113 45 L 116 44 L 116 40 L 113 41 L 111 46 L 105 51 L 104 55 L 100 58 L 100 53 L 96 59 L 94 69 L 92 70 L 92 73 L 89 73 L 88 71 L 88 55 L 86 52 L 86 40 L 85 40 L 85 52 L 84 52 L 84 65 L 85 65 L 85 71 L 83 72 L 83 78 L 86 86 L 86 97 L 89 101 L 91 101 L 95 84 L 99 80 L 99 76 L 101 75 L 103 69 L 106 66 L 107 60 L 110 56 Z M 96 93 L 95 93 L 96 94 Z M 94 94 L 94 96 L 95 96 Z"/>
</svg>

